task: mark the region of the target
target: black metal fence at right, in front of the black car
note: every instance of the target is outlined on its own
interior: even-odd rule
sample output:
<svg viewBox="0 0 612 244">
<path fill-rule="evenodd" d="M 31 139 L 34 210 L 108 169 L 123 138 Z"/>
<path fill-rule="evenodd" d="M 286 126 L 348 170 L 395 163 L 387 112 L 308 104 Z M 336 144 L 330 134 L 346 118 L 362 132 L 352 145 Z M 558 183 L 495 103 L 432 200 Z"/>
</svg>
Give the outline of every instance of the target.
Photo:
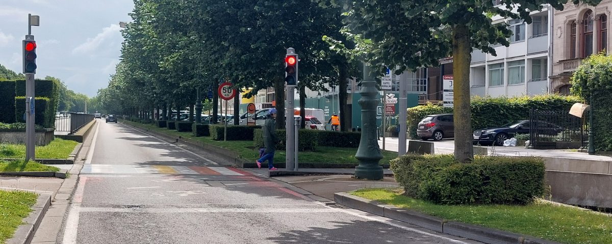
<svg viewBox="0 0 612 244">
<path fill-rule="evenodd" d="M 568 111 L 531 110 L 529 143 L 535 149 L 568 149 L 588 145 L 584 118 Z"/>
</svg>

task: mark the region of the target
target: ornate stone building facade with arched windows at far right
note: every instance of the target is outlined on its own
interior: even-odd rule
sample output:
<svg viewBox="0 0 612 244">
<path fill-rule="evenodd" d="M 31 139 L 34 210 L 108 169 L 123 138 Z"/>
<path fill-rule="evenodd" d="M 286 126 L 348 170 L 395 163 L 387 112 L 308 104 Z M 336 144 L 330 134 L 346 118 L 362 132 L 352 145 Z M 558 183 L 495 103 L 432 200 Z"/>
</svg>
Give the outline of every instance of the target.
<svg viewBox="0 0 612 244">
<path fill-rule="evenodd" d="M 597 6 L 565 4 L 554 12 L 551 92 L 569 94 L 570 78 L 582 60 L 610 49 L 608 16 L 612 1 Z"/>
</svg>

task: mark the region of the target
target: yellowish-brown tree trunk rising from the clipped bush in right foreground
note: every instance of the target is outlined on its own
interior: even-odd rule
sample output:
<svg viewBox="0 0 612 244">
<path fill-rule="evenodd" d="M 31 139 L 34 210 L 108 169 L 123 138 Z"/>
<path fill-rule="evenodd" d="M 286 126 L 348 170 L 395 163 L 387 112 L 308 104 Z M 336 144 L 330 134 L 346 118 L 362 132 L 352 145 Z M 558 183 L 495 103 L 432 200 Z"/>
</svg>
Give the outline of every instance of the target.
<svg viewBox="0 0 612 244">
<path fill-rule="evenodd" d="M 472 120 L 469 93 L 471 43 L 468 26 L 453 26 L 453 92 L 455 124 L 455 159 L 468 163 L 474 159 Z"/>
</svg>

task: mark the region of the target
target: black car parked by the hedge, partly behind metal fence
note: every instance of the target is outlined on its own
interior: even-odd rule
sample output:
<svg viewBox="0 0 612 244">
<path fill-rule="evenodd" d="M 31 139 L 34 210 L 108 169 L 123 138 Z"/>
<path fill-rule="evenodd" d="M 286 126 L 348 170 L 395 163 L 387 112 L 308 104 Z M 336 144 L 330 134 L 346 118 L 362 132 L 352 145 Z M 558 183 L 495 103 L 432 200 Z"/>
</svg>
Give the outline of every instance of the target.
<svg viewBox="0 0 612 244">
<path fill-rule="evenodd" d="M 504 140 L 514 137 L 516 134 L 531 133 L 531 121 L 519 120 L 512 123 L 504 124 L 498 127 L 487 127 L 474 131 L 474 145 L 495 145 L 503 146 Z M 537 121 L 537 130 L 540 134 L 556 135 L 563 129 L 553 123 L 545 121 Z"/>
</svg>

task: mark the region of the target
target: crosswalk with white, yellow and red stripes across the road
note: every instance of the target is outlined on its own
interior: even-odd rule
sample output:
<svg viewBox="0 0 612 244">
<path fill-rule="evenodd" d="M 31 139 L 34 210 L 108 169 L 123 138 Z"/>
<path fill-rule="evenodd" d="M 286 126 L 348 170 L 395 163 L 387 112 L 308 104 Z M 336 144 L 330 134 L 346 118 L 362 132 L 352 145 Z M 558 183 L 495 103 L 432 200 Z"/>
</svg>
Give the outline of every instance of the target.
<svg viewBox="0 0 612 244">
<path fill-rule="evenodd" d="M 227 167 L 110 164 L 86 164 L 83 166 L 81 174 L 203 174 L 250 176 L 250 174 L 241 170 Z"/>
</svg>

